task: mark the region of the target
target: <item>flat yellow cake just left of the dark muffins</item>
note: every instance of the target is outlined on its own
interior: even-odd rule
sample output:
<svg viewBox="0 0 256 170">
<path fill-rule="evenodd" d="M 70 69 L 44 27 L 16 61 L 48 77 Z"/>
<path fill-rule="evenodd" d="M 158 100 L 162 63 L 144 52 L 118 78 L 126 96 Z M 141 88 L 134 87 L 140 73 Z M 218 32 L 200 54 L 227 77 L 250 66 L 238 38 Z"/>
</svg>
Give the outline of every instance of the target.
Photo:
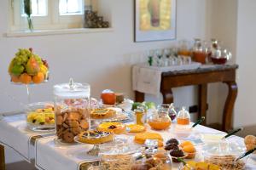
<svg viewBox="0 0 256 170">
<path fill-rule="evenodd" d="M 157 139 L 158 146 L 163 146 L 163 138 L 159 133 L 137 133 L 134 137 L 134 142 L 137 144 L 144 144 L 146 139 Z"/>
</svg>

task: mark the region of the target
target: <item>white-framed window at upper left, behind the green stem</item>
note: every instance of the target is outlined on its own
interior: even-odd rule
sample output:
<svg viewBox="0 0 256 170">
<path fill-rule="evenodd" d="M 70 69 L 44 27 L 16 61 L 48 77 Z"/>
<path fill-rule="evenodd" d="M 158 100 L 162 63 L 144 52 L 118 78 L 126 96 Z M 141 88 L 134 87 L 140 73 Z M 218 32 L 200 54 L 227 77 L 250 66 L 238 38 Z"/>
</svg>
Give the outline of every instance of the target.
<svg viewBox="0 0 256 170">
<path fill-rule="evenodd" d="M 23 0 L 11 0 L 11 31 L 26 30 Z M 78 28 L 83 26 L 84 0 L 32 0 L 34 29 Z"/>
</svg>

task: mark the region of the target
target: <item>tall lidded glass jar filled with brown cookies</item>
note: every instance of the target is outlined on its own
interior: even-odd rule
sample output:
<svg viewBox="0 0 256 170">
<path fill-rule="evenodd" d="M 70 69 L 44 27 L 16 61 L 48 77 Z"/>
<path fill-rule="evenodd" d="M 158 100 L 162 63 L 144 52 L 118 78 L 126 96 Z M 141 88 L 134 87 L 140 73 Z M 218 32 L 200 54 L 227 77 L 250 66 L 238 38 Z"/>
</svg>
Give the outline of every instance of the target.
<svg viewBox="0 0 256 170">
<path fill-rule="evenodd" d="M 54 86 L 56 134 L 61 142 L 90 128 L 90 85 L 73 82 Z"/>
</svg>

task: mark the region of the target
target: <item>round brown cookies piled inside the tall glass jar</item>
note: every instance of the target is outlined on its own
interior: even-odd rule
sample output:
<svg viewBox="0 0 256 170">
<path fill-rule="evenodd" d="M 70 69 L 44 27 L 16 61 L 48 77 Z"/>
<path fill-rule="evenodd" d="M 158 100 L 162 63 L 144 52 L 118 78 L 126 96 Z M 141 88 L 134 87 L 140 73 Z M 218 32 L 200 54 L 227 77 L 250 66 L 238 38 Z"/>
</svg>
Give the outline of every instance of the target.
<svg viewBox="0 0 256 170">
<path fill-rule="evenodd" d="M 56 109 L 56 133 L 58 139 L 63 142 L 73 143 L 73 138 L 89 129 L 89 110 L 81 108 L 68 108 L 66 111 L 61 111 L 61 108 Z"/>
</svg>

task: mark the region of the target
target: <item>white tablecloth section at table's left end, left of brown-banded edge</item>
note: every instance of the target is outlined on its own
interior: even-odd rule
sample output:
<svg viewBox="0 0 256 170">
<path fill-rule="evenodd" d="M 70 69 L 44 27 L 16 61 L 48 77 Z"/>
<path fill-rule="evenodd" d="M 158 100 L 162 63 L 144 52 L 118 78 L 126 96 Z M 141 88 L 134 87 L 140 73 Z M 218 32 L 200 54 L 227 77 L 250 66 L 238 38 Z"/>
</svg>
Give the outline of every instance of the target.
<svg viewBox="0 0 256 170">
<path fill-rule="evenodd" d="M 0 143 L 15 150 L 26 161 L 34 159 L 33 136 L 48 136 L 53 133 L 35 133 L 26 127 L 26 115 L 0 117 Z"/>
</svg>

